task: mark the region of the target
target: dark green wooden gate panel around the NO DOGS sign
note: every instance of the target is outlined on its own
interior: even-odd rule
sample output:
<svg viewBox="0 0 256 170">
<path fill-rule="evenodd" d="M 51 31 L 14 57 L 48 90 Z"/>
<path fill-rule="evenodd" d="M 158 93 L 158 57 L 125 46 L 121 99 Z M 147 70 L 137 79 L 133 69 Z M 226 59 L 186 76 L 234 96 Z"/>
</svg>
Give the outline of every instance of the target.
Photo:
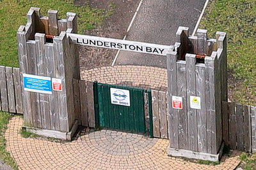
<svg viewBox="0 0 256 170">
<path fill-rule="evenodd" d="M 129 90 L 130 106 L 111 104 L 111 88 Z M 100 126 L 144 133 L 146 127 L 143 93 L 143 89 L 97 83 Z"/>
</svg>

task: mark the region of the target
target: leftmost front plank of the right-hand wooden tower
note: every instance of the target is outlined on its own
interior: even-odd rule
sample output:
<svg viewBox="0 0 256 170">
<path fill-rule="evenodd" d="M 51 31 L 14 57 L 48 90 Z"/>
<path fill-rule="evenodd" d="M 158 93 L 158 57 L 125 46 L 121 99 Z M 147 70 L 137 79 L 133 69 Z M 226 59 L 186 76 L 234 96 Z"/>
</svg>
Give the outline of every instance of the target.
<svg viewBox="0 0 256 170">
<path fill-rule="evenodd" d="M 168 103 L 170 103 L 169 115 L 169 138 L 170 147 L 179 148 L 178 111 L 172 108 L 172 96 L 177 96 L 177 52 L 168 52 L 166 55 L 168 73 Z"/>
</svg>

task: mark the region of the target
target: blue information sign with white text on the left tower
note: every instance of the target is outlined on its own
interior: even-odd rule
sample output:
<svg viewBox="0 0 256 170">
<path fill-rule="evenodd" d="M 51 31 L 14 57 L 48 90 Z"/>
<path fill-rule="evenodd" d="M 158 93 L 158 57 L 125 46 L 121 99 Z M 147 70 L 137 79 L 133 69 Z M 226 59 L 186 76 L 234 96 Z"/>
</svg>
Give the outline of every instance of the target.
<svg viewBox="0 0 256 170">
<path fill-rule="evenodd" d="M 52 94 L 51 77 L 23 74 L 24 90 Z"/>
</svg>

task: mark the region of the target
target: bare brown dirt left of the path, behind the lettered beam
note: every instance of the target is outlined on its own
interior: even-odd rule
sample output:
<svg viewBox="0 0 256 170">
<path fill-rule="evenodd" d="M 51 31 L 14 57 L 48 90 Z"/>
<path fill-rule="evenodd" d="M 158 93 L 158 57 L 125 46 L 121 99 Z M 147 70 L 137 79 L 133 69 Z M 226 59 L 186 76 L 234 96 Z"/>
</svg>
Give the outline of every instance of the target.
<svg viewBox="0 0 256 170">
<path fill-rule="evenodd" d="M 97 25 L 96 29 L 85 31 L 84 34 L 123 39 L 140 0 L 78 0 L 74 3 L 81 6 L 89 4 L 91 8 L 114 11 L 114 14 L 105 20 L 104 24 Z M 106 48 L 80 46 L 80 68 L 84 70 L 110 66 L 116 52 L 117 50 Z"/>
</svg>

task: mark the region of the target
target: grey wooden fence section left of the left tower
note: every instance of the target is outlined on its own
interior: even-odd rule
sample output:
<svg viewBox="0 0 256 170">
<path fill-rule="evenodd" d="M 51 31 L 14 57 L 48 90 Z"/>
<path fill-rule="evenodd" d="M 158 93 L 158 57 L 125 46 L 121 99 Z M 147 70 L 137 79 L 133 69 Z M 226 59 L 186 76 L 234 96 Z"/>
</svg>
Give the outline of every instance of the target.
<svg viewBox="0 0 256 170">
<path fill-rule="evenodd" d="M 0 66 L 0 110 L 22 114 L 20 69 Z"/>
</svg>

